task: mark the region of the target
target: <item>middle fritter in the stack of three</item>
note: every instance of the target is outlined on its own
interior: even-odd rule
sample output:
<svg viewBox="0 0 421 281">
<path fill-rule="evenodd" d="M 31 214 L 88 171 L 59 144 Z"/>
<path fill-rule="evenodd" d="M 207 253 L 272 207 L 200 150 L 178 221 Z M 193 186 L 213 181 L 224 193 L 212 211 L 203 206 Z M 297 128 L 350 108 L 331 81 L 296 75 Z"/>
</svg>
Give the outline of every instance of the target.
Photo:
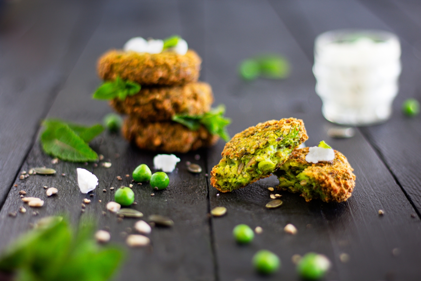
<svg viewBox="0 0 421 281">
<path fill-rule="evenodd" d="M 125 100 L 115 98 L 110 105 L 122 114 L 154 122 L 171 120 L 176 114 L 202 115 L 213 103 L 208 83 L 187 83 L 183 86 L 142 88 L 139 94 Z"/>
</svg>

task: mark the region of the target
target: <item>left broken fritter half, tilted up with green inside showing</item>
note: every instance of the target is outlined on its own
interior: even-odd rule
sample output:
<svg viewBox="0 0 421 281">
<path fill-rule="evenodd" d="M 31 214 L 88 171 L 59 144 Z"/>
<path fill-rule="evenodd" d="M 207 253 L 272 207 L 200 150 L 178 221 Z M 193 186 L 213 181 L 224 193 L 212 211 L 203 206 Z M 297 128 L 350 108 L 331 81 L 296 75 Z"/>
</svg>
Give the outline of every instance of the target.
<svg viewBox="0 0 421 281">
<path fill-rule="evenodd" d="M 210 183 L 227 192 L 269 177 L 306 139 L 303 121 L 295 118 L 247 128 L 226 143 L 221 161 L 210 172 Z"/>
</svg>

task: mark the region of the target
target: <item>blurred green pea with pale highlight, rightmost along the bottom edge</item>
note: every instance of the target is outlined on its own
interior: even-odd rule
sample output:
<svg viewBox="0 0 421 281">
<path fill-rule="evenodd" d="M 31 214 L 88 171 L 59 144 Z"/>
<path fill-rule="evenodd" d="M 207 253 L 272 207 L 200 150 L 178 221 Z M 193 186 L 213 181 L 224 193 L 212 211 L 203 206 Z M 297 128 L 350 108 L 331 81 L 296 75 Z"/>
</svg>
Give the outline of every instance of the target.
<svg viewBox="0 0 421 281">
<path fill-rule="evenodd" d="M 297 272 L 305 279 L 318 280 L 322 278 L 330 268 L 330 261 L 322 254 L 307 253 L 298 262 Z"/>
</svg>

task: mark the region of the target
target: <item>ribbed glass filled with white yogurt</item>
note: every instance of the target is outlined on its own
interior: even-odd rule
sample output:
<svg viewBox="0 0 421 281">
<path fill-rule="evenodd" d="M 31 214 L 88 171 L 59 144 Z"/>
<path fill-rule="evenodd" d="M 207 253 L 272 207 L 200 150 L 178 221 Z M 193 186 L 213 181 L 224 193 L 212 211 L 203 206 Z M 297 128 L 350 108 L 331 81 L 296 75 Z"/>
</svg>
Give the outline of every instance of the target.
<svg viewBox="0 0 421 281">
<path fill-rule="evenodd" d="M 333 30 L 317 36 L 313 73 L 322 113 L 362 126 L 387 120 L 398 92 L 400 43 L 381 30 Z"/>
</svg>

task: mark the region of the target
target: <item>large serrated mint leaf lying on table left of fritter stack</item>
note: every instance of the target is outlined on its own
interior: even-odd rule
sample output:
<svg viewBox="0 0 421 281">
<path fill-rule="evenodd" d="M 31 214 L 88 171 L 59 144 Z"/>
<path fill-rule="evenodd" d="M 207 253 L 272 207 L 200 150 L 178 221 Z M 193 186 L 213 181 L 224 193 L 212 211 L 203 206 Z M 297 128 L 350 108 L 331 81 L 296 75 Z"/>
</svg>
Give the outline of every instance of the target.
<svg viewBox="0 0 421 281">
<path fill-rule="evenodd" d="M 45 120 L 45 131 L 41 134 L 41 144 L 45 153 L 64 161 L 85 162 L 95 161 L 98 155 L 89 147 L 84 139 L 78 136 L 68 124 L 58 120 Z M 91 139 L 98 127 L 80 130 L 85 139 Z"/>
</svg>

